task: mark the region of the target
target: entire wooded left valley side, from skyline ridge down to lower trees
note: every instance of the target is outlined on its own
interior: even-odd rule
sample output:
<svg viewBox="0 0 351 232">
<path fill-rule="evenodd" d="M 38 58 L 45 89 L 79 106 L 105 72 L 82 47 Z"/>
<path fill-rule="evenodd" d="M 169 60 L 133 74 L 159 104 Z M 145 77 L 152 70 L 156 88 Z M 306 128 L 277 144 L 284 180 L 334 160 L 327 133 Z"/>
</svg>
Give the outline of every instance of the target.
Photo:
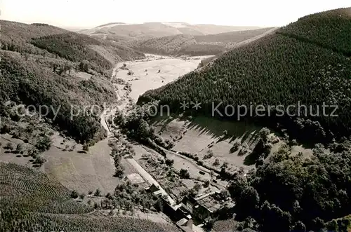
<svg viewBox="0 0 351 232">
<path fill-rule="evenodd" d="M 144 57 L 114 42 L 43 24 L 2 20 L 0 42 L 0 103 L 52 106 L 58 111 L 53 124 L 79 142 L 96 141 L 104 133 L 98 112 L 71 118 L 72 107 L 78 111 L 84 105 L 112 104 L 116 95 L 109 79 L 114 64 Z M 84 73 L 90 78 L 79 77 Z M 47 118 L 53 119 L 54 112 Z"/>
</svg>

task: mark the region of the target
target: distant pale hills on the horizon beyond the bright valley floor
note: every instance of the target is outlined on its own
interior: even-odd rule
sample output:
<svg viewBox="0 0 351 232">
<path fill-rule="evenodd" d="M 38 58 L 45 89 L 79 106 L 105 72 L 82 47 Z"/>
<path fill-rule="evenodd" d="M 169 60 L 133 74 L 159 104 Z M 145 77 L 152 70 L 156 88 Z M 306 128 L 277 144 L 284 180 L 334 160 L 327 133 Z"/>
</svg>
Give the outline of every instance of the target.
<svg viewBox="0 0 351 232">
<path fill-rule="evenodd" d="M 98 39 L 159 55 L 217 55 L 270 28 L 190 25 L 185 22 L 107 23 L 82 30 Z"/>
</svg>

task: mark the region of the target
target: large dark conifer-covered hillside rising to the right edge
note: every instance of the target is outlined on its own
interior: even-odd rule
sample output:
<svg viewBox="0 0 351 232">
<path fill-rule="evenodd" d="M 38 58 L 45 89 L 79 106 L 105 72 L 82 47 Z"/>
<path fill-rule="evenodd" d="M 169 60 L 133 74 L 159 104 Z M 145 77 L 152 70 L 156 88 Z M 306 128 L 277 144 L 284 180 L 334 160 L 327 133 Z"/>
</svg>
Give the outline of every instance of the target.
<svg viewBox="0 0 351 232">
<path fill-rule="evenodd" d="M 211 67 L 193 71 L 163 88 L 148 91 L 139 102 L 161 100 L 160 104 L 170 104 L 173 111 L 179 111 L 180 102 L 198 100 L 202 108 L 197 112 L 208 116 L 212 114 L 212 104 L 217 106 L 220 102 L 223 102 L 218 107 L 220 112 L 224 112 L 228 104 L 247 107 L 252 104 L 253 109 L 259 104 L 282 104 L 286 109 L 300 102 L 300 105 L 312 106 L 314 114 L 305 116 L 301 112 L 287 116 L 285 112 L 284 116 L 275 116 L 277 111 L 266 107 L 265 117 L 246 119 L 287 129 L 289 135 L 306 142 L 348 137 L 351 129 L 351 59 L 344 51 L 350 46 L 351 33 L 333 34 L 335 28 L 350 32 L 351 15 L 347 12 L 350 8 L 298 20 L 276 34 L 225 53 Z M 313 20 L 305 25 L 309 18 Z M 305 34 L 308 36 L 304 37 Z M 331 44 L 324 46 L 321 41 L 329 36 L 333 38 L 328 40 Z M 323 104 L 338 105 L 338 117 L 324 116 Z M 318 107 L 320 114 L 315 116 Z M 326 115 L 331 111 L 333 109 L 327 108 Z M 237 120 L 237 114 L 236 111 L 226 118 Z"/>
</svg>

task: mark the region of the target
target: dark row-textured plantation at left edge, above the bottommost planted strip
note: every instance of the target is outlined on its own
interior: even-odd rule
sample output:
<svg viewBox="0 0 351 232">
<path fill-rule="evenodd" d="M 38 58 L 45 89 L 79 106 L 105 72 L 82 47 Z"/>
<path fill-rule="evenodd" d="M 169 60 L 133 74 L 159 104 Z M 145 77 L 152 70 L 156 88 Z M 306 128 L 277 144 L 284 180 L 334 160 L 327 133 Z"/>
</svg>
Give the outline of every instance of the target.
<svg viewBox="0 0 351 232">
<path fill-rule="evenodd" d="M 81 214 L 93 211 L 77 203 L 59 182 L 32 168 L 0 163 L 0 207 L 12 205 L 36 212 Z"/>
</svg>

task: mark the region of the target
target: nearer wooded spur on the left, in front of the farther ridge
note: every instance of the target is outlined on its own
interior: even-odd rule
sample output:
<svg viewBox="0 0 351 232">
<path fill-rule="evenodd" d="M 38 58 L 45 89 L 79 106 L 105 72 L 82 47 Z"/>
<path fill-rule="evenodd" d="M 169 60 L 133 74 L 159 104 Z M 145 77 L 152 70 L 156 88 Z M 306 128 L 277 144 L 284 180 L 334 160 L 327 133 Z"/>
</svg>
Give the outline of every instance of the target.
<svg viewBox="0 0 351 232">
<path fill-rule="evenodd" d="M 0 102 L 7 100 L 17 103 L 52 108 L 47 118 L 54 118 L 55 111 L 58 116 L 53 123 L 67 130 L 69 135 L 80 142 L 88 142 L 101 132 L 98 114 L 95 117 L 87 114 L 71 118 L 71 107 L 79 109 L 83 105 L 101 105 L 103 102 L 114 102 L 116 99 L 112 87 L 101 76 L 90 80 L 74 79 L 62 72 L 58 74 L 50 67 L 60 63 L 53 60 L 48 67 L 40 60 L 25 60 L 20 54 L 11 52 L 1 53 L 0 75 Z M 62 64 L 62 67 L 65 67 Z"/>
</svg>

